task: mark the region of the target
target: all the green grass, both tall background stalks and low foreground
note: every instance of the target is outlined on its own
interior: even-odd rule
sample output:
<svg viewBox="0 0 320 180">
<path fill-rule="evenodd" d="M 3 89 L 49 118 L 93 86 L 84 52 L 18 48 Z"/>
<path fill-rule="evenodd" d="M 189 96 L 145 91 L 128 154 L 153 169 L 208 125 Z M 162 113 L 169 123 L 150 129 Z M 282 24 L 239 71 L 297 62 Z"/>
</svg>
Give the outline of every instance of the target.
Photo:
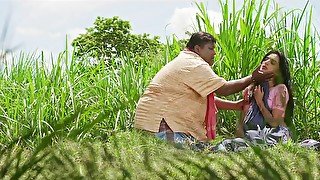
<svg viewBox="0 0 320 180">
<path fill-rule="evenodd" d="M 218 39 L 214 70 L 226 79 L 240 78 L 251 73 L 269 49 L 280 49 L 290 60 L 298 138 L 319 139 L 319 50 L 315 45 L 320 37 L 311 24 L 308 4 L 303 10 L 282 12 L 270 11 L 271 1 L 245 1 L 239 10 L 236 1 L 229 2 L 220 1 L 219 33 L 206 7 L 196 4 L 195 29 Z M 168 39 L 163 54 L 123 55 L 107 65 L 78 62 L 67 48 L 56 59 L 26 53 L 1 59 L 0 178 L 319 176 L 319 154 L 290 143 L 240 155 L 203 154 L 132 131 L 139 97 L 180 50 L 181 41 L 174 38 Z M 227 98 L 237 99 L 240 94 Z M 231 135 L 236 119 L 238 114 L 221 111 L 219 134 Z"/>
</svg>

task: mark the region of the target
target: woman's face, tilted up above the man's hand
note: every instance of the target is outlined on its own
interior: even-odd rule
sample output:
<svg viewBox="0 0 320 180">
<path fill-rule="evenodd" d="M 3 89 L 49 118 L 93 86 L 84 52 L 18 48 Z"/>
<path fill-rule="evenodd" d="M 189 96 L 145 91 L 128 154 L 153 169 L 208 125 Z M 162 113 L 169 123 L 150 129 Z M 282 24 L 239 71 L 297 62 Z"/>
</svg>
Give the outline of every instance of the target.
<svg viewBox="0 0 320 180">
<path fill-rule="evenodd" d="M 272 72 L 274 74 L 279 74 L 279 62 L 280 59 L 277 54 L 270 54 L 262 61 L 260 70 L 262 72 Z"/>
</svg>

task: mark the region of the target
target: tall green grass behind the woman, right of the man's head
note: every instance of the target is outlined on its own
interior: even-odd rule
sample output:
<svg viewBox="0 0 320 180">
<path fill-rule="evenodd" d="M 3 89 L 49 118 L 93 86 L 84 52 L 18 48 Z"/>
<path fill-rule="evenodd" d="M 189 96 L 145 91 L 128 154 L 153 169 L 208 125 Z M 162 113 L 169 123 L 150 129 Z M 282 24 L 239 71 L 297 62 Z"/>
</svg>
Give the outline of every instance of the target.
<svg viewBox="0 0 320 180">
<path fill-rule="evenodd" d="M 228 80 L 241 78 L 250 74 L 269 50 L 284 52 L 289 59 L 294 92 L 293 130 L 298 139 L 319 139 L 320 50 L 316 43 L 320 39 L 312 25 L 313 11 L 308 2 L 302 10 L 289 12 L 270 0 L 245 1 L 239 10 L 235 0 L 219 2 L 223 21 L 218 30 L 204 4 L 196 4 L 197 29 L 214 34 L 218 41 L 215 72 Z M 236 113 L 220 113 L 220 130 L 232 134 L 238 118 Z"/>
</svg>

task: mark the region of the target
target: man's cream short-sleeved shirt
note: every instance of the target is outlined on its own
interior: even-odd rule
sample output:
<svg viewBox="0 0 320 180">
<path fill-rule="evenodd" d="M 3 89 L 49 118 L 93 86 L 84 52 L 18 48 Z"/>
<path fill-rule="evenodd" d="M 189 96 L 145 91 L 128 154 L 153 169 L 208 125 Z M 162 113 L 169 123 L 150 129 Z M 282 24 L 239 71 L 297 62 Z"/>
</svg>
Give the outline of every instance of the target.
<svg viewBox="0 0 320 180">
<path fill-rule="evenodd" d="M 197 54 L 182 51 L 156 74 L 140 98 L 135 127 L 158 132 L 165 119 L 174 132 L 206 138 L 206 96 L 224 83 Z"/>
</svg>

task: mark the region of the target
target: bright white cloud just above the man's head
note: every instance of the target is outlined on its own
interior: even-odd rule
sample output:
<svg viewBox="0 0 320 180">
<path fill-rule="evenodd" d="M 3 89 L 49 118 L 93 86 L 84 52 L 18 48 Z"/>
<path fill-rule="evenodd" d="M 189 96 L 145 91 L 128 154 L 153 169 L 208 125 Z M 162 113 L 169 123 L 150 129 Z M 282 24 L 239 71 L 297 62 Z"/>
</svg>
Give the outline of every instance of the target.
<svg viewBox="0 0 320 180">
<path fill-rule="evenodd" d="M 168 34 L 175 34 L 179 39 L 187 38 L 185 32 L 194 32 L 194 28 L 197 27 L 196 14 L 198 12 L 197 8 L 175 9 L 168 23 Z M 222 15 L 211 10 L 208 10 L 208 15 L 217 33 L 218 26 L 222 22 Z"/>
</svg>

